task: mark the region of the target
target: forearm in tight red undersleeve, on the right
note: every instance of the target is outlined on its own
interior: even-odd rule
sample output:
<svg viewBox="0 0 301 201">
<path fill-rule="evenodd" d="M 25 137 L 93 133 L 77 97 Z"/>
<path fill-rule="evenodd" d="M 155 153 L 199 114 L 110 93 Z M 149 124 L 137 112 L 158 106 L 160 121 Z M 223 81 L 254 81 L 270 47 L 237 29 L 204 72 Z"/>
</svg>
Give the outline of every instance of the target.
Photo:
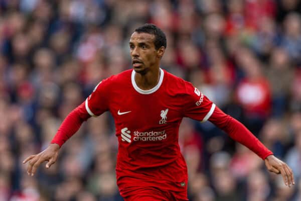
<svg viewBox="0 0 301 201">
<path fill-rule="evenodd" d="M 209 121 L 225 131 L 233 140 L 248 147 L 260 158 L 273 154 L 243 124 L 216 108 Z"/>
</svg>

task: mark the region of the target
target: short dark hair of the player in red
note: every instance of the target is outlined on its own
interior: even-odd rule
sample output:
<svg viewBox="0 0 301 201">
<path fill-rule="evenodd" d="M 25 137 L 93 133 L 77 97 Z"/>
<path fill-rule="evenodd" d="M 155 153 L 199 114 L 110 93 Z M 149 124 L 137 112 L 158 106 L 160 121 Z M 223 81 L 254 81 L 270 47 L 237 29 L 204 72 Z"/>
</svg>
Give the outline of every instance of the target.
<svg viewBox="0 0 301 201">
<path fill-rule="evenodd" d="M 141 27 L 135 29 L 135 32 L 155 35 L 154 44 L 157 50 L 162 46 L 164 46 L 165 48 L 167 46 L 165 33 L 154 24 L 144 24 Z"/>
</svg>

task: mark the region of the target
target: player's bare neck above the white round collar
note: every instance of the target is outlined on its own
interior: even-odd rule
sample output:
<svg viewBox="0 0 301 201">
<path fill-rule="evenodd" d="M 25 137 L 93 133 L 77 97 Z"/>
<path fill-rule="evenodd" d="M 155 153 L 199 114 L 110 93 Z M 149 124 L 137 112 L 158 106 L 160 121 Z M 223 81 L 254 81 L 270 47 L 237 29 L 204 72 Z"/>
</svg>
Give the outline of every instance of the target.
<svg viewBox="0 0 301 201">
<path fill-rule="evenodd" d="M 135 73 L 135 82 L 142 90 L 154 88 L 160 79 L 160 68 L 149 70 L 146 73 Z"/>
</svg>

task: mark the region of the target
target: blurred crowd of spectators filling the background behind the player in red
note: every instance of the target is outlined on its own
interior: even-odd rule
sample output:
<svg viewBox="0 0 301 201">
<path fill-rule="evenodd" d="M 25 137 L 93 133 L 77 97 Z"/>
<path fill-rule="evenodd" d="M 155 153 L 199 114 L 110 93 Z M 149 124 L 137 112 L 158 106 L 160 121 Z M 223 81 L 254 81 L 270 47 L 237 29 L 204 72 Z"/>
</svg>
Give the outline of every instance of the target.
<svg viewBox="0 0 301 201">
<path fill-rule="evenodd" d="M 298 0 L 0 0 L 0 200 L 122 200 L 109 113 L 91 118 L 34 177 L 22 161 L 112 74 L 131 68 L 133 30 L 167 35 L 161 67 L 191 81 L 293 170 L 284 186 L 210 122 L 184 119 L 191 201 L 301 200 Z"/>
</svg>

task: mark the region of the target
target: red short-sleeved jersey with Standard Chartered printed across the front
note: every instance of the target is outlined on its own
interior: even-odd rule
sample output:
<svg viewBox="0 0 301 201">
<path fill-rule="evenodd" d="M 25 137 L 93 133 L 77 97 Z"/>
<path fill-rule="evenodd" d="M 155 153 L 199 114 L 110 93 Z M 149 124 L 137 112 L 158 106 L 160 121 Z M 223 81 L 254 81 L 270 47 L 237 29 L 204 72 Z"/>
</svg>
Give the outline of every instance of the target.
<svg viewBox="0 0 301 201">
<path fill-rule="evenodd" d="M 91 116 L 110 111 L 118 138 L 117 185 L 121 195 L 134 186 L 187 189 L 187 167 L 178 143 L 183 117 L 207 121 L 215 105 L 190 82 L 160 69 L 159 83 L 142 90 L 135 71 L 102 80 L 86 99 Z"/>
</svg>

